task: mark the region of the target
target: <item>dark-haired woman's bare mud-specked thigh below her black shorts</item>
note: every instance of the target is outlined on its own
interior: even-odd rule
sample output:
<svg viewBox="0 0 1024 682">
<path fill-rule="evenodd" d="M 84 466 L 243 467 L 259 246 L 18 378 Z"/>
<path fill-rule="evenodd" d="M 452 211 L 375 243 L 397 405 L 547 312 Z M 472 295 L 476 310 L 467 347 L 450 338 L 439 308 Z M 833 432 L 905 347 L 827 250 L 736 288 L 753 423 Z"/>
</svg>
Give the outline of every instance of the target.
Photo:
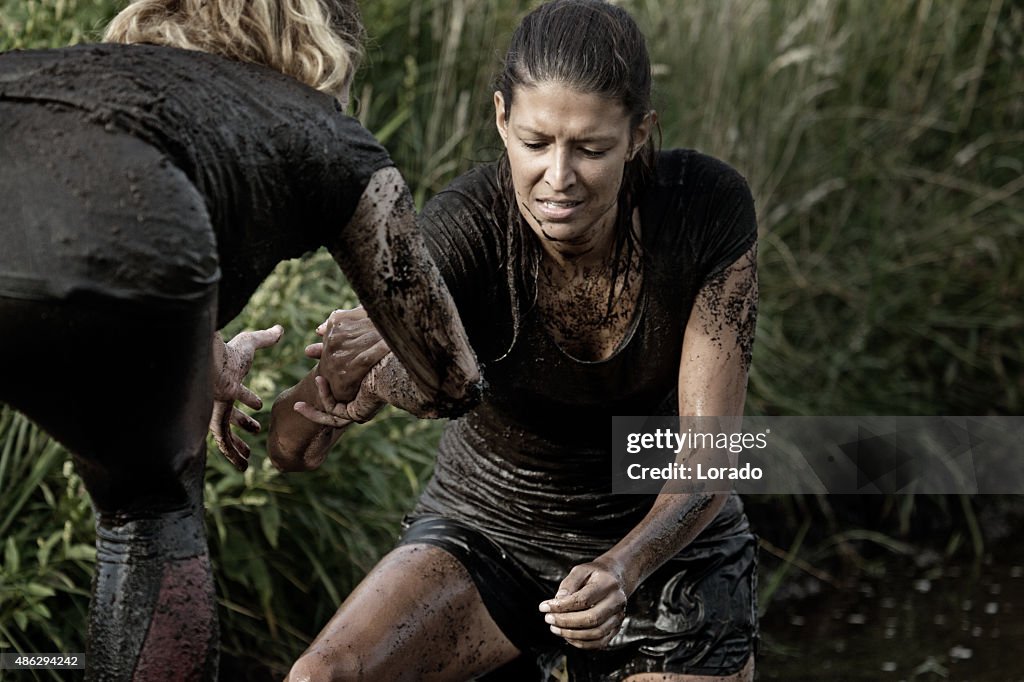
<svg viewBox="0 0 1024 682">
<path fill-rule="evenodd" d="M 289 681 L 466 680 L 518 653 L 455 557 L 403 545 L 349 595 Z"/>
</svg>

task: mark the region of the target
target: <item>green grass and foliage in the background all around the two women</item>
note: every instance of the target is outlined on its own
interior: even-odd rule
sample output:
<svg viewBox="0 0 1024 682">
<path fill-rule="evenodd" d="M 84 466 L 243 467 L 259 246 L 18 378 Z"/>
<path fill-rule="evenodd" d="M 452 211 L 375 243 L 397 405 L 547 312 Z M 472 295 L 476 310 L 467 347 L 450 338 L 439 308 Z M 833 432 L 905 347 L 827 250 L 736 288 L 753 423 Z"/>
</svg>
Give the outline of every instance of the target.
<svg viewBox="0 0 1024 682">
<path fill-rule="evenodd" d="M 0 49 L 96 40 L 123 4 L 0 0 Z M 358 116 L 419 201 L 494 158 L 488 81 L 527 4 L 364 3 L 373 42 L 353 90 Z M 1020 415 L 1024 9 L 1002 0 L 622 4 L 649 40 L 664 146 L 728 161 L 757 199 L 762 307 L 749 410 Z M 232 323 L 229 332 L 288 329 L 252 375 L 268 404 L 308 370 L 301 348 L 313 327 L 351 302 L 330 259 L 313 254 L 279 267 Z M 83 650 L 86 495 L 61 449 L 2 410 L 0 648 Z M 387 413 L 304 475 L 273 471 L 258 439 L 245 475 L 211 451 L 208 529 L 230 675 L 245 666 L 280 675 L 302 650 L 392 542 L 437 433 Z M 871 547 L 907 541 L 980 557 L 997 538 L 979 515 L 1008 504 L 750 500 L 768 550 L 762 605 L 794 566 L 842 556 L 863 568 Z M 937 528 L 941 541 L 929 535 Z"/>
</svg>

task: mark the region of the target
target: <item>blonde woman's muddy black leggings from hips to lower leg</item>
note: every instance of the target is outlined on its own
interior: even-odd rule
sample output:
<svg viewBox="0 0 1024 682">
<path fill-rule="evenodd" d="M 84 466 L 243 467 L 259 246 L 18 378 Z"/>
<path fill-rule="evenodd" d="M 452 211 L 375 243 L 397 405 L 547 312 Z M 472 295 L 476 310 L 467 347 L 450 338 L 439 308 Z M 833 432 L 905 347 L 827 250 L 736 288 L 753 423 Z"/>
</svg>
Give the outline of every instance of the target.
<svg viewBox="0 0 1024 682">
<path fill-rule="evenodd" d="M 0 401 L 92 500 L 87 679 L 215 679 L 206 205 L 157 151 L 60 111 L 0 101 Z"/>
</svg>

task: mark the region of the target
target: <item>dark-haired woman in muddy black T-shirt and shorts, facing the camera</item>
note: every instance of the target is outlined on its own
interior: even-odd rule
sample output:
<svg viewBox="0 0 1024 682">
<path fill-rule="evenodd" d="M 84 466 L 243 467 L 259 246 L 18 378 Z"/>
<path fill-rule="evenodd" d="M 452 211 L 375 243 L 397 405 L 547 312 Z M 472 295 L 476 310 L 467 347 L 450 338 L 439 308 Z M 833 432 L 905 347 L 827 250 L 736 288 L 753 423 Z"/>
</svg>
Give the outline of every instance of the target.
<svg viewBox="0 0 1024 682">
<path fill-rule="evenodd" d="M 650 87 L 644 39 L 611 4 L 555 0 L 516 30 L 494 94 L 504 155 L 420 218 L 482 399 L 447 423 L 398 546 L 291 682 L 546 680 L 562 656 L 570 680 L 753 679 L 740 499 L 610 493 L 611 416 L 742 415 L 757 315 L 746 182 L 656 151 Z M 274 406 L 283 468 L 321 461 L 383 401 L 433 412 L 358 313 L 326 329 L 321 376 Z"/>
</svg>

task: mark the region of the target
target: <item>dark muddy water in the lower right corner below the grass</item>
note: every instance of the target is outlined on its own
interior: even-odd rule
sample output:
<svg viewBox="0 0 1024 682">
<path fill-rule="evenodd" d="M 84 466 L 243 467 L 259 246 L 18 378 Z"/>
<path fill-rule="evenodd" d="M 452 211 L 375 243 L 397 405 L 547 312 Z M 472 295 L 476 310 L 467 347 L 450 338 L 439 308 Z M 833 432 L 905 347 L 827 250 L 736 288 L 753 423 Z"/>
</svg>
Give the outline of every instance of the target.
<svg viewBox="0 0 1024 682">
<path fill-rule="evenodd" d="M 1024 548 L 1006 545 L 980 565 L 918 555 L 851 588 L 805 581 L 767 609 L 758 679 L 1024 682 Z"/>
</svg>

